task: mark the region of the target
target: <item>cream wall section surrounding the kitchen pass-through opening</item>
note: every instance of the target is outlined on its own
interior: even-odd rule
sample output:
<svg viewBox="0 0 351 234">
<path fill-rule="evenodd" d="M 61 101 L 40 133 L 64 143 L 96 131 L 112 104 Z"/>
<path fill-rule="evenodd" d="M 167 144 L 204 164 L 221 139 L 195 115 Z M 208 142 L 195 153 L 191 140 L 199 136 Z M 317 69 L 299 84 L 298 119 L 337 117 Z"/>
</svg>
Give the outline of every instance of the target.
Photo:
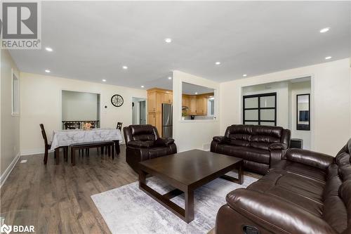
<svg viewBox="0 0 351 234">
<path fill-rule="evenodd" d="M 220 100 L 219 98 L 215 100 L 216 120 L 181 120 L 182 82 L 216 89 L 217 97 L 219 97 L 220 86 L 216 82 L 192 74 L 173 72 L 173 138 L 176 140 L 178 152 L 196 148 L 204 149 L 204 144 L 211 143 L 212 137 L 219 134 L 218 103 Z"/>
</svg>

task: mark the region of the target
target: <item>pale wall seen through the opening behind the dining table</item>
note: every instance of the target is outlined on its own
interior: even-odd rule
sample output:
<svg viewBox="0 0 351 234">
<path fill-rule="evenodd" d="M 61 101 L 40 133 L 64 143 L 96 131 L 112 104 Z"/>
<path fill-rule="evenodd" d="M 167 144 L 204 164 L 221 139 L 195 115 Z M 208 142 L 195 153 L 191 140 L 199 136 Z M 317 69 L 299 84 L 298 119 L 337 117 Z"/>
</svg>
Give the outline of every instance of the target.
<svg viewBox="0 0 351 234">
<path fill-rule="evenodd" d="M 62 121 L 98 120 L 98 94 L 62 91 Z"/>
</svg>

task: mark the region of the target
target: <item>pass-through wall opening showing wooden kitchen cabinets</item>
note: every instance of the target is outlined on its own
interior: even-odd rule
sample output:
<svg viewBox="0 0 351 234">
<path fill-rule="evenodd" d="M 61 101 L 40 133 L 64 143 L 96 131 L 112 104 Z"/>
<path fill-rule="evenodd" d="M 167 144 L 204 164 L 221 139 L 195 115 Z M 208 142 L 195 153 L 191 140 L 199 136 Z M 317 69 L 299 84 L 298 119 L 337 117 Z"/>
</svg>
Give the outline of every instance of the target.
<svg viewBox="0 0 351 234">
<path fill-rule="evenodd" d="M 183 82 L 182 119 L 216 119 L 215 90 Z"/>
</svg>

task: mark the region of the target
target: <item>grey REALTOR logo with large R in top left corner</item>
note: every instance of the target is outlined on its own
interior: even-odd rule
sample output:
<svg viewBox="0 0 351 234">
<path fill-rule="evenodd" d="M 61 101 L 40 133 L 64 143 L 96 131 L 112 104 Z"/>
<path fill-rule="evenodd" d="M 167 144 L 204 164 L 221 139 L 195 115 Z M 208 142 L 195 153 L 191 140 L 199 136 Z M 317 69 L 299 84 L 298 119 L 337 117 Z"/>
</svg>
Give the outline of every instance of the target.
<svg viewBox="0 0 351 234">
<path fill-rule="evenodd" d="M 1 48 L 41 48 L 40 2 L 1 3 Z"/>
</svg>

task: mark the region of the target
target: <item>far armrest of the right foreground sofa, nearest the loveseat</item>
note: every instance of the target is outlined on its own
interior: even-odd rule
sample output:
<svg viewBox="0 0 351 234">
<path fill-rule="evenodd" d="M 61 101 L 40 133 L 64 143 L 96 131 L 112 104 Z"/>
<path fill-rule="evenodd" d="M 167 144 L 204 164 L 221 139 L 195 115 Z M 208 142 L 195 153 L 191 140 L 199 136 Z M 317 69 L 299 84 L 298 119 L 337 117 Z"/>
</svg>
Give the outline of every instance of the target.
<svg viewBox="0 0 351 234">
<path fill-rule="evenodd" d="M 334 162 L 334 157 L 321 152 L 291 148 L 285 153 L 286 160 L 300 162 L 319 169 L 327 169 Z"/>
</svg>

